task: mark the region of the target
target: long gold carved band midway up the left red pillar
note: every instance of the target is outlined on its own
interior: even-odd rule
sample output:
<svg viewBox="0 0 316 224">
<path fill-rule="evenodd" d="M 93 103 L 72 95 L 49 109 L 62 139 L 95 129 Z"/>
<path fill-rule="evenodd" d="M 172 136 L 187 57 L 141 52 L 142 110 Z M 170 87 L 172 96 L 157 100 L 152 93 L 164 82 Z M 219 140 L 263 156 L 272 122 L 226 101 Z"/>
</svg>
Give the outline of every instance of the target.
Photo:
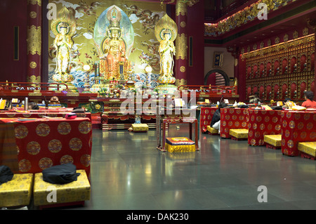
<svg viewBox="0 0 316 224">
<path fill-rule="evenodd" d="M 32 25 L 27 30 L 27 52 L 41 55 L 41 27 Z"/>
</svg>

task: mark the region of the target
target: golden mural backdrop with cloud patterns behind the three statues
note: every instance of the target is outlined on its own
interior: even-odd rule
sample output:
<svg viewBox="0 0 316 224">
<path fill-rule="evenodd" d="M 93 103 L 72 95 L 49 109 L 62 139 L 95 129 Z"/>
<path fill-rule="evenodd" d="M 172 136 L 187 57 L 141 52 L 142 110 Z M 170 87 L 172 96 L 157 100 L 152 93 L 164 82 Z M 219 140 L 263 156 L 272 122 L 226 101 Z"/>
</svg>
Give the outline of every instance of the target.
<svg viewBox="0 0 316 224">
<path fill-rule="evenodd" d="M 97 23 L 102 26 L 103 23 L 98 21 L 101 15 L 104 15 L 107 8 L 115 5 L 121 9 L 126 15 L 128 22 L 123 22 L 121 25 L 124 27 L 127 23 L 131 23 L 133 26 L 133 46 L 128 50 L 128 60 L 131 62 L 133 72 L 135 76 L 134 81 L 138 84 L 144 84 L 146 80 L 145 66 L 152 66 L 152 87 L 157 85 L 157 78 L 159 77 L 159 41 L 154 36 L 154 25 L 162 18 L 166 13 L 165 6 L 161 6 L 159 3 L 146 3 L 135 1 L 93 1 L 93 0 L 49 0 L 49 3 L 54 3 L 57 6 L 57 11 L 63 6 L 67 7 L 70 12 L 73 13 L 77 22 L 77 29 L 72 37 L 74 45 L 72 47 L 70 56 L 70 74 L 73 75 L 73 84 L 76 87 L 84 86 L 85 72 L 83 66 L 88 64 L 91 67 L 94 62 L 100 60 L 100 54 L 98 52 L 98 44 L 96 44 L 94 38 L 95 27 Z M 162 8 L 163 7 L 163 8 Z M 125 18 L 125 19 L 126 19 Z M 98 21 L 98 22 L 97 22 Z M 51 21 L 49 23 L 49 27 Z M 104 29 L 106 29 L 107 22 L 104 22 Z M 124 29 L 125 32 L 127 31 Z M 53 41 L 55 34 L 48 30 L 49 37 L 49 61 L 48 61 L 48 80 L 54 82 L 52 77 L 55 72 L 55 48 L 53 47 Z M 126 52 L 127 53 L 127 52 Z M 91 68 L 89 72 L 90 83 L 93 84 L 94 69 Z"/>
</svg>

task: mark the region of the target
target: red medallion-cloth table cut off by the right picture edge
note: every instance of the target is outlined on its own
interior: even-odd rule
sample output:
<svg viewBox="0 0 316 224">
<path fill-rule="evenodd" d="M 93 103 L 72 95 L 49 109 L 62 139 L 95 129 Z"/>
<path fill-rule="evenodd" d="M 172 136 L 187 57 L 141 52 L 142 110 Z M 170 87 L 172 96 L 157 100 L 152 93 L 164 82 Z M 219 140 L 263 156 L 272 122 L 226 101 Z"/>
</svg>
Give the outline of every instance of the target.
<svg viewBox="0 0 316 224">
<path fill-rule="evenodd" d="M 316 141 L 316 111 L 282 111 L 282 154 L 298 156 L 298 143 Z"/>
</svg>

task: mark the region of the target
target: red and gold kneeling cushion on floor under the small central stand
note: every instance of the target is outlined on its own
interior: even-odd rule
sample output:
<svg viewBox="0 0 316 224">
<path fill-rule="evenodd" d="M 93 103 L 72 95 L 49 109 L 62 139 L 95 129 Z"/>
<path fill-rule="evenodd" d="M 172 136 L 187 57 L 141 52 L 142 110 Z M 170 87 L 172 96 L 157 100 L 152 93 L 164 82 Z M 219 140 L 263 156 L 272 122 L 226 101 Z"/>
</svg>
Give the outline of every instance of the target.
<svg viewBox="0 0 316 224">
<path fill-rule="evenodd" d="M 195 142 L 190 138 L 166 138 L 166 150 L 168 152 L 195 152 Z"/>
</svg>

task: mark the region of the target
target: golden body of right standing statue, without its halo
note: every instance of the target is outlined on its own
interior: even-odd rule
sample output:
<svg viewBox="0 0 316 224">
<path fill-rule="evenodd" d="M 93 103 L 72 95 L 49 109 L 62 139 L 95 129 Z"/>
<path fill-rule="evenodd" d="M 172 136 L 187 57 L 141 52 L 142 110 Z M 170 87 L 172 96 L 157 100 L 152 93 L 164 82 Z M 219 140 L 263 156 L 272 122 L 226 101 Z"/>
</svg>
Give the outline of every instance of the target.
<svg viewBox="0 0 316 224">
<path fill-rule="evenodd" d="M 171 41 L 171 31 L 169 29 L 164 30 L 162 38 L 159 46 L 160 74 L 163 77 L 171 78 L 174 65 L 173 55 L 176 55 L 176 47 Z"/>
</svg>

